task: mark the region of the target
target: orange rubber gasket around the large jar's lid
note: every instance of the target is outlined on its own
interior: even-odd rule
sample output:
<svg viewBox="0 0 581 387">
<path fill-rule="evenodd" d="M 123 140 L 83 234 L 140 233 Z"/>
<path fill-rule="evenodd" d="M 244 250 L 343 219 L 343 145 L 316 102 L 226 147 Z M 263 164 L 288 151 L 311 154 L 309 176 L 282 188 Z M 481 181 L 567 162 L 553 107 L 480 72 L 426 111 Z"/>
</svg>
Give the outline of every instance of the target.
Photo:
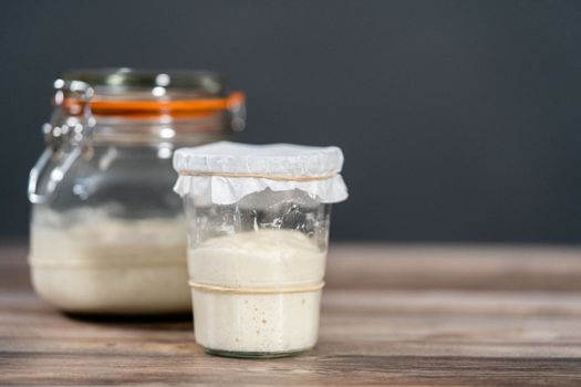
<svg viewBox="0 0 581 387">
<path fill-rule="evenodd" d="M 174 101 L 112 101 L 91 100 L 91 112 L 102 116 L 126 116 L 146 118 L 160 115 L 172 117 L 205 117 L 216 111 L 231 109 L 243 104 L 246 97 L 241 92 L 234 92 L 226 98 L 174 100 Z M 72 114 L 80 113 L 85 102 L 77 98 L 65 98 L 63 106 Z"/>
</svg>

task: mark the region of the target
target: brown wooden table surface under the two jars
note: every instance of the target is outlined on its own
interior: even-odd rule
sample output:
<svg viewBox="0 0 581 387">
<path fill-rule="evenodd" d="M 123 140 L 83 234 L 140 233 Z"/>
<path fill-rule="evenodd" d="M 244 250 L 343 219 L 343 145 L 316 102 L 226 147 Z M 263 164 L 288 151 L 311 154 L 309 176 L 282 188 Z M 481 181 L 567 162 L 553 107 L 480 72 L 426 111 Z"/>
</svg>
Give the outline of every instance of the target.
<svg viewBox="0 0 581 387">
<path fill-rule="evenodd" d="M 581 249 L 335 244 L 304 355 L 206 355 L 188 316 L 79 320 L 0 248 L 0 385 L 581 386 Z"/>
</svg>

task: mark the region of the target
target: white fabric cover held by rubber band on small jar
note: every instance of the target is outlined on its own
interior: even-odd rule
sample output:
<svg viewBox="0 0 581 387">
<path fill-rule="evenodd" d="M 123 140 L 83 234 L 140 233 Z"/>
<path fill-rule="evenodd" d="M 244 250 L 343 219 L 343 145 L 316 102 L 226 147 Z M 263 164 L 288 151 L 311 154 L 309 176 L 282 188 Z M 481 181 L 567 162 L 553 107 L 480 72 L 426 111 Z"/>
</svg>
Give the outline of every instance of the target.
<svg viewBox="0 0 581 387">
<path fill-rule="evenodd" d="M 184 176 L 174 190 L 180 196 L 207 197 L 217 205 L 231 205 L 242 197 L 267 188 L 273 191 L 300 189 L 321 202 L 332 203 L 347 198 L 347 189 L 339 172 L 343 167 L 340 148 L 290 144 L 249 145 L 214 143 L 181 148 L 174 154 L 174 168 L 180 172 L 251 174 L 279 177 L 326 177 L 323 180 L 272 180 L 263 177 Z"/>
</svg>

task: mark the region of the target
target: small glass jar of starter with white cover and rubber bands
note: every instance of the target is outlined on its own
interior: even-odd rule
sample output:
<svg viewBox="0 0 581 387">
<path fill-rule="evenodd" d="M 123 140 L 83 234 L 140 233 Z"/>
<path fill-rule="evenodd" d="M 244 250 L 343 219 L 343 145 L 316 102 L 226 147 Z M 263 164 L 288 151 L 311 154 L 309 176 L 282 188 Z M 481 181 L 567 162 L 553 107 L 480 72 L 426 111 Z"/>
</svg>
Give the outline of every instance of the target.
<svg viewBox="0 0 581 387">
<path fill-rule="evenodd" d="M 281 357 L 315 345 L 342 161 L 335 147 L 177 150 L 195 335 L 208 353 Z"/>
</svg>

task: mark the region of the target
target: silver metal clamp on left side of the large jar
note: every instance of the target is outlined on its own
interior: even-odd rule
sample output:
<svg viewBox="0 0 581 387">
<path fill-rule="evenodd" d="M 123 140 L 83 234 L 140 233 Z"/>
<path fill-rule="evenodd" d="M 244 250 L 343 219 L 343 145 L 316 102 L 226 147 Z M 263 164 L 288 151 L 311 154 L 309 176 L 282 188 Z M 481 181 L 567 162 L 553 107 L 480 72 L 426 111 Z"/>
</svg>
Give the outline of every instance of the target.
<svg viewBox="0 0 581 387">
<path fill-rule="evenodd" d="M 29 175 L 28 197 L 32 203 L 48 202 L 73 163 L 92 153 L 91 137 L 95 119 L 90 101 L 93 88 L 84 82 L 54 81 L 55 109 L 51 122 L 42 126 L 46 149 Z M 79 112 L 68 109 L 66 101 L 79 102 Z"/>
</svg>

